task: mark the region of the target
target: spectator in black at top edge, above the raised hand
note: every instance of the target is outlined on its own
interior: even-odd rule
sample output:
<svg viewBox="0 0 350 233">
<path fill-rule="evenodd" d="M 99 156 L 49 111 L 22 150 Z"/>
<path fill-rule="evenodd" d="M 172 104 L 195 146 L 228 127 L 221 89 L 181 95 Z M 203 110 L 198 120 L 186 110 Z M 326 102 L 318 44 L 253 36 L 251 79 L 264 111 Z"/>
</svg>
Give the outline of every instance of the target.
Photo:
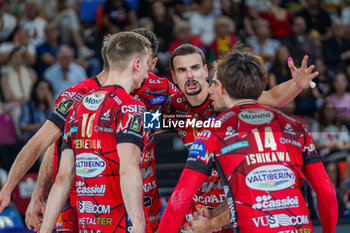
<svg viewBox="0 0 350 233">
<path fill-rule="evenodd" d="M 307 33 L 320 41 L 325 41 L 331 36 L 331 19 L 329 13 L 321 6 L 320 0 L 304 1 L 304 7 L 296 16 L 304 18 Z"/>
</svg>

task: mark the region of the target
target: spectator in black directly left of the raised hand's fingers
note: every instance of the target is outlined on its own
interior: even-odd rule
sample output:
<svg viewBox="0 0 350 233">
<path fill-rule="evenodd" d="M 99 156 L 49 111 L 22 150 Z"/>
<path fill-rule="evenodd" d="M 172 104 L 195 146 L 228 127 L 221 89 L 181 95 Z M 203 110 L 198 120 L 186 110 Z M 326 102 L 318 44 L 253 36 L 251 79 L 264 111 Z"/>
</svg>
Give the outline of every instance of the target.
<svg viewBox="0 0 350 233">
<path fill-rule="evenodd" d="M 271 66 L 268 79 L 268 87 L 273 88 L 280 83 L 291 79 L 290 70 L 288 68 L 287 59 L 290 57 L 289 49 L 281 46 L 276 52 L 274 62 Z"/>
</svg>

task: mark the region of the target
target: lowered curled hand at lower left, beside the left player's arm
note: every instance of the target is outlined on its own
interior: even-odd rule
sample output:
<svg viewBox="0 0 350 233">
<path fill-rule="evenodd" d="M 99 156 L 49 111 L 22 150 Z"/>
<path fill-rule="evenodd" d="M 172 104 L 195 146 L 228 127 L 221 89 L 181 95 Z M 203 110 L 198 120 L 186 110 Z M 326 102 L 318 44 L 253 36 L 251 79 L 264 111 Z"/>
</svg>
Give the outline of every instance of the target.
<svg viewBox="0 0 350 233">
<path fill-rule="evenodd" d="M 26 225 L 29 230 L 42 223 L 41 217 L 45 214 L 45 203 L 40 198 L 30 200 L 26 211 Z"/>
</svg>

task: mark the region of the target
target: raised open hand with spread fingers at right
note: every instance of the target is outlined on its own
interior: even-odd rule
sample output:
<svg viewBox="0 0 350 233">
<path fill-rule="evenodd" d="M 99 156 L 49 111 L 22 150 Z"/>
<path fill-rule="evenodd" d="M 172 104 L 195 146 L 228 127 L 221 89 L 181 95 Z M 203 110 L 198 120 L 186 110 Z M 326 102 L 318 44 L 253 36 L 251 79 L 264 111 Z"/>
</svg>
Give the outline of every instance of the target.
<svg viewBox="0 0 350 233">
<path fill-rule="evenodd" d="M 309 57 L 306 55 L 301 62 L 301 67 L 296 68 L 291 57 L 288 58 L 288 67 L 292 74 L 294 82 L 302 89 L 307 89 L 310 87 L 310 83 L 314 78 L 318 76 L 318 71 L 312 72 L 315 68 L 314 65 L 307 66 L 307 61 Z"/>
</svg>

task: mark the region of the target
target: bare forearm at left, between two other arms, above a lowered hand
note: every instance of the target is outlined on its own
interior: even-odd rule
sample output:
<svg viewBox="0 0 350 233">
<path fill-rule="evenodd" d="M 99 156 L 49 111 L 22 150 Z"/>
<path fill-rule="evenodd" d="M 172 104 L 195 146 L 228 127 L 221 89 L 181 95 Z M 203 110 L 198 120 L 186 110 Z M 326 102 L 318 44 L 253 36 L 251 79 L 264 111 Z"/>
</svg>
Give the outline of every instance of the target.
<svg viewBox="0 0 350 233">
<path fill-rule="evenodd" d="M 41 162 L 38 180 L 36 182 L 32 198 L 43 199 L 52 180 L 53 156 L 55 145 L 52 144 L 46 151 Z"/>
</svg>

